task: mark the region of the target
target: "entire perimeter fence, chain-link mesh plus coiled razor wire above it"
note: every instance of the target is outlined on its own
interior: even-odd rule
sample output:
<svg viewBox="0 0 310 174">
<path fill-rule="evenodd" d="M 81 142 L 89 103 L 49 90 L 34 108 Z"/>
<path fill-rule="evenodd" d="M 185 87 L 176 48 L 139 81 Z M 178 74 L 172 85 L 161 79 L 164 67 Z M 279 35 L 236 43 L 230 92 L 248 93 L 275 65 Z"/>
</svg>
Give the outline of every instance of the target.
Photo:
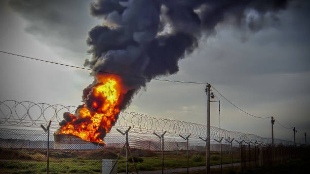
<svg viewBox="0 0 310 174">
<path fill-rule="evenodd" d="M 109 173 L 114 164 L 115 172 L 112 173 L 126 173 L 126 159 L 128 173 L 162 173 L 162 161 L 165 173 L 186 172 L 187 157 L 189 171 L 206 168 L 206 142 L 202 140 L 206 137 L 206 125 L 120 113 L 117 124 L 104 138 L 106 144 L 98 144 L 57 134 L 63 113 L 74 113 L 75 110 L 74 106 L 14 100 L 0 102 L 0 125 L 7 127 L 0 128 L 0 173 L 46 173 L 48 135 L 40 125 L 47 125 L 49 120 L 52 120 L 48 154 L 50 173 Z M 125 132 L 129 126 L 132 127 L 128 135 L 130 148 L 126 155 L 126 148 L 123 149 L 126 136 L 115 129 Z M 162 135 L 165 131 L 164 142 L 153 134 Z M 187 137 L 189 134 L 187 152 L 187 141 L 179 135 Z M 221 151 L 220 143 L 214 141 L 219 138 L 223 138 Z M 235 140 L 231 150 L 226 140 L 232 138 Z M 279 163 L 302 154 L 289 146 L 292 142 L 276 139 L 275 158 L 272 159 L 270 139 L 217 127 L 211 127 L 210 139 L 210 168 L 215 170 L 219 169 L 220 154 L 226 168 L 231 168 L 232 154 L 233 170 L 241 170 L 241 161 L 244 169 L 255 167 L 254 157 L 256 165 L 272 165 L 272 160 Z M 243 142 L 240 150 L 236 140 L 257 141 L 262 146 L 259 148 L 256 144 L 255 151 L 251 144 L 249 153 L 249 146 Z"/>
</svg>

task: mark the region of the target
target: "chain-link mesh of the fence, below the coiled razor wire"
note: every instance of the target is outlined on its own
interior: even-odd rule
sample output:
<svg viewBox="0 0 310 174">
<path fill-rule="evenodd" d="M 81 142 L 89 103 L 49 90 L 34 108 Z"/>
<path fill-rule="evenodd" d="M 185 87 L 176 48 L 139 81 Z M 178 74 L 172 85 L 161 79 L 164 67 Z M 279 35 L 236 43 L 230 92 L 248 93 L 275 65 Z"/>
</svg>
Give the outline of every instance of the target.
<svg viewBox="0 0 310 174">
<path fill-rule="evenodd" d="M 46 173 L 47 137 L 43 130 L 0 128 L 0 173 Z M 122 134 L 108 134 L 102 145 L 50 132 L 49 173 L 110 173 L 113 166 L 111 173 L 162 173 L 162 163 L 164 173 L 205 170 L 206 142 L 189 136 L 187 143 L 187 136 L 182 137 L 185 140 L 164 136 L 163 142 L 156 135 L 129 132 L 126 155 L 126 136 Z M 241 146 L 240 150 L 238 142 L 225 139 L 212 141 L 211 170 L 219 170 L 220 164 L 232 170 L 269 166 L 303 153 L 293 146 L 277 145 L 274 150 L 270 145 L 242 142 Z"/>
</svg>

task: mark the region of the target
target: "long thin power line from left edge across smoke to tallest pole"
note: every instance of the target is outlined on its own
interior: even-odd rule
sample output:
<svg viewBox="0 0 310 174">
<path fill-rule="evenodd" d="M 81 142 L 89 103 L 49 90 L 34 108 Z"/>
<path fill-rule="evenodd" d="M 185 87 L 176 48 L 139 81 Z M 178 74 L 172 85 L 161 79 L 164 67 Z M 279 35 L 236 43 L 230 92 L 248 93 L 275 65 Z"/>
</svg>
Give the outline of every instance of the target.
<svg viewBox="0 0 310 174">
<path fill-rule="evenodd" d="M 89 71 L 102 72 L 102 73 L 114 74 L 114 75 L 120 75 L 120 76 L 123 75 L 123 74 L 119 74 L 119 73 L 100 71 L 100 70 L 95 70 L 95 69 L 90 69 L 90 68 L 83 68 L 83 67 L 79 67 L 79 66 L 67 65 L 67 64 L 63 64 L 63 63 L 59 63 L 59 62 L 47 61 L 47 60 L 33 58 L 33 57 L 28 57 L 28 56 L 23 56 L 23 55 L 19 55 L 19 54 L 15 54 L 15 53 L 9 53 L 9 52 L 5 52 L 5 51 L 1 51 L 1 50 L 0 50 L 0 52 L 1 53 L 5 53 L 5 54 L 9 54 L 9 55 L 13 55 L 13 56 L 18 56 L 18 57 L 22 57 L 22 58 L 31 59 L 31 60 L 37 60 L 37 61 L 42 61 L 42 62 L 46 62 L 46 63 L 67 66 L 67 67 L 71 67 L 71 68 L 78 68 L 78 69 L 84 69 L 84 70 L 89 70 Z M 136 78 L 144 78 L 144 77 L 136 77 Z M 152 80 L 157 80 L 157 81 L 167 81 L 167 82 L 176 82 L 176 83 L 207 84 L 206 82 L 195 82 L 195 81 L 166 80 L 166 79 L 159 79 L 159 78 L 151 78 L 151 79 Z"/>
</svg>

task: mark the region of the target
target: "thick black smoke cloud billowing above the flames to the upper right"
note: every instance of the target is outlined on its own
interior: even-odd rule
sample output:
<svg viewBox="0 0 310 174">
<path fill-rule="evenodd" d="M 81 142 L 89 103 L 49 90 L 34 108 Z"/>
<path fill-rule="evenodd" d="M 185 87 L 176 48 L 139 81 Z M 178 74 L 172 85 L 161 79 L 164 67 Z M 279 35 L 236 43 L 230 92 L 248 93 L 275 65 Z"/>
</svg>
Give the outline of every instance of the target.
<svg viewBox="0 0 310 174">
<path fill-rule="evenodd" d="M 218 24 L 232 22 L 257 31 L 263 27 L 266 17 L 277 21 L 275 13 L 285 9 L 287 3 L 281 0 L 98 0 L 91 4 L 91 14 L 102 18 L 104 23 L 89 31 L 87 44 L 92 58 L 85 61 L 85 66 L 122 74 L 124 85 L 130 90 L 124 109 L 151 78 L 178 72 L 178 61 L 197 48 L 199 39 L 212 34 Z"/>
</svg>

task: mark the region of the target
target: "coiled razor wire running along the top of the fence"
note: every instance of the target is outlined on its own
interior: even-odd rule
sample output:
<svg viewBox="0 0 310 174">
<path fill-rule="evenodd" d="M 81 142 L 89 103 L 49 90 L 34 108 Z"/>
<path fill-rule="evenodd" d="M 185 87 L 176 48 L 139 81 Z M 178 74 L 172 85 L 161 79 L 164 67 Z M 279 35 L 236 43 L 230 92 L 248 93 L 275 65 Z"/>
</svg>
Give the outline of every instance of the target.
<svg viewBox="0 0 310 174">
<path fill-rule="evenodd" d="M 30 101 L 18 102 L 15 100 L 0 101 L 0 125 L 40 127 L 41 124 L 48 124 L 51 120 L 51 128 L 58 129 L 59 122 L 63 120 L 63 113 L 74 114 L 77 107 L 64 105 L 50 105 L 47 103 L 34 103 Z M 167 131 L 167 136 L 178 137 L 179 135 L 191 134 L 191 138 L 206 138 L 207 126 L 192 122 L 155 118 L 145 114 L 135 112 L 121 112 L 119 119 L 111 129 L 110 134 L 116 128 L 127 129 L 131 126 L 130 132 L 133 134 L 153 134 Z M 218 127 L 210 126 L 210 138 L 236 139 L 252 142 L 270 143 L 270 138 L 263 138 L 254 134 L 233 132 Z M 291 145 L 293 142 L 275 139 L 276 144 Z"/>
</svg>

